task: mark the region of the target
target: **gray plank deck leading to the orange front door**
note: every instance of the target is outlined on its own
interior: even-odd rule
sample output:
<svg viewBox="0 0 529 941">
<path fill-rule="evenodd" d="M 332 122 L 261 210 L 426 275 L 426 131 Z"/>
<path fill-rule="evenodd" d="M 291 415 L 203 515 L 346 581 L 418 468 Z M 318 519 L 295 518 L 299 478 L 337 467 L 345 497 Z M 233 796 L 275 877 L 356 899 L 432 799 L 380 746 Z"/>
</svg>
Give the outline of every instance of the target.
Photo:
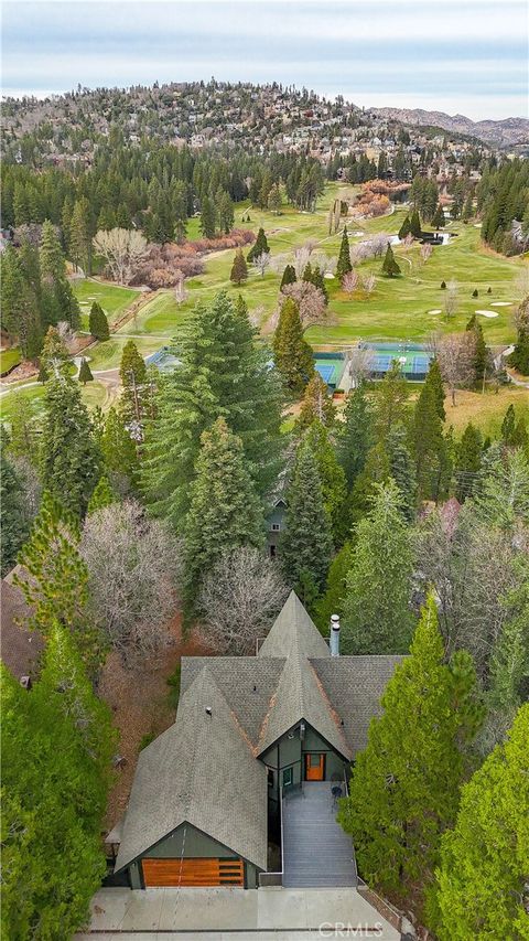
<svg viewBox="0 0 529 941">
<path fill-rule="evenodd" d="M 283 886 L 356 886 L 355 851 L 336 823 L 330 781 L 283 799 Z"/>
</svg>

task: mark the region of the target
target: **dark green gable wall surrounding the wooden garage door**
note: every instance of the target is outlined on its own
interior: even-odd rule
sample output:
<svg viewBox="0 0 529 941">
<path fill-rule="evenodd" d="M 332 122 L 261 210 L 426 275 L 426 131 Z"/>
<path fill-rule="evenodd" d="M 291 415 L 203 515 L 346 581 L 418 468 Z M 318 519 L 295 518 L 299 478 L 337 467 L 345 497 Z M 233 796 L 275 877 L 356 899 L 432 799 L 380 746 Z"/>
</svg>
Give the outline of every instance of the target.
<svg viewBox="0 0 529 941">
<path fill-rule="evenodd" d="M 168 834 L 160 843 L 156 843 L 151 849 L 147 849 L 138 859 L 130 864 L 129 878 L 132 889 L 142 889 L 143 879 L 141 873 L 141 859 L 168 859 L 205 857 L 205 858 L 228 858 L 238 859 L 239 854 L 217 843 L 216 840 L 208 836 L 207 833 L 196 830 L 191 824 L 182 824 L 173 833 Z M 258 886 L 258 868 L 252 864 L 245 862 L 245 887 L 256 889 Z"/>
</svg>

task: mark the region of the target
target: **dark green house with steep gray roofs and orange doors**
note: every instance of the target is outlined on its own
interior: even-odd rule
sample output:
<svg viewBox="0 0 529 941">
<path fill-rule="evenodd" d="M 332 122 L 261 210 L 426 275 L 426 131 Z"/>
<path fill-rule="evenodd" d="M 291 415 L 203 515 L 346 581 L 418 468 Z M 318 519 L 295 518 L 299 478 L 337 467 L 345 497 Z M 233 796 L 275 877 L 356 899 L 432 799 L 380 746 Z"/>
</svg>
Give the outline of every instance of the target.
<svg viewBox="0 0 529 941">
<path fill-rule="evenodd" d="M 255 656 L 182 657 L 175 721 L 141 751 L 107 838 L 112 879 L 257 888 L 284 795 L 344 782 L 400 660 L 332 655 L 294 592 Z"/>
</svg>

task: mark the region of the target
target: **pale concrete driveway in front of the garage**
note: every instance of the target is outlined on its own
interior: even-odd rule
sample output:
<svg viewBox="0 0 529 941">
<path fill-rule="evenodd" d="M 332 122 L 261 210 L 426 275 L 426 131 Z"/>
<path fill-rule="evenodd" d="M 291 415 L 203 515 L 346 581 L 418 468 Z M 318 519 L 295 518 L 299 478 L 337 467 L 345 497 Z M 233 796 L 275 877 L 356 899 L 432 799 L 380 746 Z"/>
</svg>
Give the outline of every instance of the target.
<svg viewBox="0 0 529 941">
<path fill-rule="evenodd" d="M 128 934 L 128 932 L 133 932 Z M 354 888 L 245 890 L 100 889 L 91 901 L 91 920 L 77 939 L 182 937 L 186 941 L 287 941 L 304 938 L 378 938 L 400 933 Z"/>
</svg>

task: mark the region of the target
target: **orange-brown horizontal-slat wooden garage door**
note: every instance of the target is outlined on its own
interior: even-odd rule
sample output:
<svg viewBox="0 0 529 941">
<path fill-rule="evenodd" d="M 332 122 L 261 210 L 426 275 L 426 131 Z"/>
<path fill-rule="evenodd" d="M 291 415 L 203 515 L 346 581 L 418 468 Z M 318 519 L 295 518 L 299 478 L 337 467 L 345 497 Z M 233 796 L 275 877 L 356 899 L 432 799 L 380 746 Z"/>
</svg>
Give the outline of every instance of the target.
<svg viewBox="0 0 529 941">
<path fill-rule="evenodd" d="M 242 859 L 143 859 L 145 886 L 244 886 Z"/>
</svg>

